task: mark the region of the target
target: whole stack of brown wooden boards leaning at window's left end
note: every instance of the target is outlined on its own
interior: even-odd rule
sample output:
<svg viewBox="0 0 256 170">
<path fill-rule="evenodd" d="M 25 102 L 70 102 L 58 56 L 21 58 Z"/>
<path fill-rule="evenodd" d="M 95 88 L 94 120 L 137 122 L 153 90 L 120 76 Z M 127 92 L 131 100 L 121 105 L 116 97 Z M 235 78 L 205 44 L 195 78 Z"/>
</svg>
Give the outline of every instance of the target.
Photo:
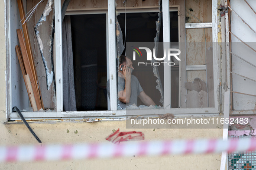
<svg viewBox="0 0 256 170">
<path fill-rule="evenodd" d="M 23 8 L 23 2 L 22 0 L 17 0 L 17 2 L 19 6 L 20 19 L 23 24 L 23 31 L 21 29 L 17 29 L 17 35 L 20 46 L 16 45 L 15 50 L 19 59 L 19 65 L 22 71 L 23 79 L 29 95 L 29 101 L 31 103 L 33 111 L 37 111 L 40 109 L 44 110 L 42 94 L 40 91 L 34 57 L 32 55 L 32 48 L 29 40 L 28 28 L 25 22 L 26 17 Z"/>
</svg>

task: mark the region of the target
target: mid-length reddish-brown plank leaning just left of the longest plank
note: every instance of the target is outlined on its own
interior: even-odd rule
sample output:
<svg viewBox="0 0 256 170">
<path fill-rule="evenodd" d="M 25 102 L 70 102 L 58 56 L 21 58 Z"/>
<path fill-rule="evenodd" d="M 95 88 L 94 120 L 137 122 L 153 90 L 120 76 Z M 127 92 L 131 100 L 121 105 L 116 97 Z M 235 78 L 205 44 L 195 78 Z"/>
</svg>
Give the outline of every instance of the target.
<svg viewBox="0 0 256 170">
<path fill-rule="evenodd" d="M 35 79 L 32 76 L 32 69 L 31 69 L 31 65 L 30 65 L 30 62 L 29 62 L 29 57 L 28 57 L 28 54 L 27 54 L 25 41 L 24 41 L 23 33 L 22 33 L 21 29 L 17 29 L 17 35 L 18 35 L 18 39 L 19 39 L 19 44 L 20 44 L 20 48 L 21 48 L 21 53 L 22 53 L 22 57 L 23 57 L 23 64 L 24 64 L 26 74 L 29 74 L 29 78 L 31 80 L 33 91 L 38 91 L 37 84 L 35 83 Z M 34 94 L 35 94 L 35 98 L 36 98 L 37 108 L 40 110 L 42 108 L 42 106 L 41 106 L 40 97 L 38 95 L 39 93 L 34 93 Z"/>
</svg>

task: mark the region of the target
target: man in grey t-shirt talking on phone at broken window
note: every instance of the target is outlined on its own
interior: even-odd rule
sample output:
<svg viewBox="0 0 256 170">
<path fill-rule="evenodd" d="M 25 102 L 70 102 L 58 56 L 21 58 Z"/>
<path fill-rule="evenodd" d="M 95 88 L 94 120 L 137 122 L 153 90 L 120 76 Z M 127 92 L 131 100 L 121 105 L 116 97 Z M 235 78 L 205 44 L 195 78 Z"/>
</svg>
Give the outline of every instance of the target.
<svg viewBox="0 0 256 170">
<path fill-rule="evenodd" d="M 143 91 L 136 76 L 132 75 L 133 63 L 130 58 L 120 56 L 119 70 L 118 70 L 118 83 L 117 83 L 117 97 L 118 109 L 125 109 L 126 106 L 136 104 L 138 97 L 146 106 L 153 105 L 155 102 Z M 107 81 L 107 93 L 110 96 L 109 80 Z"/>
</svg>

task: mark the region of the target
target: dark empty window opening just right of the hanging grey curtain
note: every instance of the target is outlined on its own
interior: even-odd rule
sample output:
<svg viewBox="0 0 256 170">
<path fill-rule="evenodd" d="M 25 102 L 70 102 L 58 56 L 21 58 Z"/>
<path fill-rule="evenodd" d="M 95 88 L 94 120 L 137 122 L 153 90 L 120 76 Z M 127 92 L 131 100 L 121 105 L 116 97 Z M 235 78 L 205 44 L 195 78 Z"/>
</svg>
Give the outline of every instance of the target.
<svg viewBox="0 0 256 170">
<path fill-rule="evenodd" d="M 107 110 L 106 15 L 71 16 L 77 110 Z"/>
</svg>

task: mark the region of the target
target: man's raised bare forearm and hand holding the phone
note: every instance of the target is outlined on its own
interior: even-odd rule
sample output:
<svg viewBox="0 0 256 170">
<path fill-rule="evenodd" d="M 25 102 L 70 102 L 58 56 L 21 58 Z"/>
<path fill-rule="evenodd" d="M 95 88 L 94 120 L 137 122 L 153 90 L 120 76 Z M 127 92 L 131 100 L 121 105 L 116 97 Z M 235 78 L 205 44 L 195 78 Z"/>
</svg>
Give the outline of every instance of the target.
<svg viewBox="0 0 256 170">
<path fill-rule="evenodd" d="M 131 97 L 131 75 L 132 72 L 127 66 L 123 66 L 123 77 L 125 79 L 125 87 L 123 91 L 118 92 L 118 99 L 123 103 L 129 103 Z"/>
</svg>

